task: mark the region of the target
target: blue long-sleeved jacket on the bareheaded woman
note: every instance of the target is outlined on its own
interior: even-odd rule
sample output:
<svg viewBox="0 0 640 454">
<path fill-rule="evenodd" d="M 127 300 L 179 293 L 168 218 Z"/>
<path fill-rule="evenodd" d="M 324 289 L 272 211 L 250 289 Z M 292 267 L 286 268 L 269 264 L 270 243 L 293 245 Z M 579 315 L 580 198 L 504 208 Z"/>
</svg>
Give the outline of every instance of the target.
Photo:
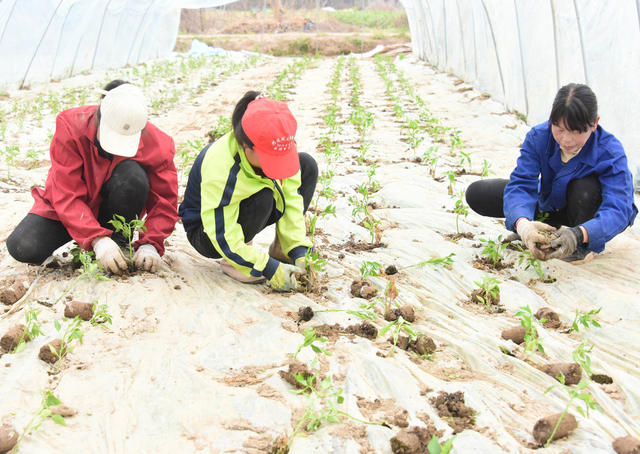
<svg viewBox="0 0 640 454">
<path fill-rule="evenodd" d="M 549 122 L 534 126 L 504 189 L 507 229 L 515 231 L 515 222 L 521 217 L 533 219 L 536 205 L 541 212 L 563 209 L 569 182 L 593 174 L 602 186 L 602 204 L 594 218 L 582 226 L 589 234 L 587 249 L 601 252 L 607 241 L 633 224 L 638 213 L 622 144 L 598 126 L 578 155 L 562 165 Z"/>
</svg>

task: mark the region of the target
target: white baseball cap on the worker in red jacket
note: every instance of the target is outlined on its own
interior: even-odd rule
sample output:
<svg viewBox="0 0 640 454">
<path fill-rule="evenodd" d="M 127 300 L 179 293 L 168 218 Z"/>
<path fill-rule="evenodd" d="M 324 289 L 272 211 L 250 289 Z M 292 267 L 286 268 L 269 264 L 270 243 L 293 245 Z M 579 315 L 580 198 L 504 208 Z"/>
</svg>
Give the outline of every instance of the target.
<svg viewBox="0 0 640 454">
<path fill-rule="evenodd" d="M 105 92 L 100 103 L 100 145 L 105 151 L 130 158 L 140 145 L 147 124 L 147 103 L 135 85 L 122 84 Z"/>
</svg>

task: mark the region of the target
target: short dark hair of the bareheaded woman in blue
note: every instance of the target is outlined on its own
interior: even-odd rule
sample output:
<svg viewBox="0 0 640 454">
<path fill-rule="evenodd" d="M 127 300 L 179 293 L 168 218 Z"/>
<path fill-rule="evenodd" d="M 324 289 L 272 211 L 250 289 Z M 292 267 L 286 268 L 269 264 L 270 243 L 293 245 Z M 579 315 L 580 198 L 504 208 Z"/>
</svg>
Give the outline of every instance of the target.
<svg viewBox="0 0 640 454">
<path fill-rule="evenodd" d="M 598 101 L 595 93 L 584 84 L 567 84 L 558 90 L 553 100 L 549 121 L 564 122 L 571 131 L 587 132 L 596 122 Z"/>
</svg>

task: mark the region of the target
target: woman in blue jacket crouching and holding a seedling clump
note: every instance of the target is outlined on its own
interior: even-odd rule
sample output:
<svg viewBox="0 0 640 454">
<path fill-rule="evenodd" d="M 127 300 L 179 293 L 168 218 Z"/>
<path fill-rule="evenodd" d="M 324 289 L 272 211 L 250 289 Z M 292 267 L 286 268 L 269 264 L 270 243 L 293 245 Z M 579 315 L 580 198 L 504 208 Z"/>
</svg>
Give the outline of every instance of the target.
<svg viewBox="0 0 640 454">
<path fill-rule="evenodd" d="M 638 209 L 624 148 L 599 120 L 593 91 L 565 85 L 549 120 L 527 134 L 510 178 L 472 183 L 467 203 L 481 215 L 506 217 L 536 258 L 577 264 L 601 252 Z"/>
</svg>

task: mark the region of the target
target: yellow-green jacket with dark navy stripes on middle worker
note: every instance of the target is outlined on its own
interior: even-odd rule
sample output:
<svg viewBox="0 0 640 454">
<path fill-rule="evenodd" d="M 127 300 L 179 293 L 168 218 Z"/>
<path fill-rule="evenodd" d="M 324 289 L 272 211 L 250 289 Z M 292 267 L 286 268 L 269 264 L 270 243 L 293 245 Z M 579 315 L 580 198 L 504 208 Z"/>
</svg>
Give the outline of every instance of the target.
<svg viewBox="0 0 640 454">
<path fill-rule="evenodd" d="M 300 185 L 300 171 L 282 181 L 256 174 L 230 132 L 209 144 L 196 158 L 179 214 L 187 232 L 202 224 L 215 249 L 236 269 L 248 276 L 271 279 L 280 262 L 266 251 L 245 244 L 237 222 L 240 202 L 264 188 L 271 189 L 282 251 L 295 261 L 311 247 L 303 200 L 298 193 Z"/>
</svg>

